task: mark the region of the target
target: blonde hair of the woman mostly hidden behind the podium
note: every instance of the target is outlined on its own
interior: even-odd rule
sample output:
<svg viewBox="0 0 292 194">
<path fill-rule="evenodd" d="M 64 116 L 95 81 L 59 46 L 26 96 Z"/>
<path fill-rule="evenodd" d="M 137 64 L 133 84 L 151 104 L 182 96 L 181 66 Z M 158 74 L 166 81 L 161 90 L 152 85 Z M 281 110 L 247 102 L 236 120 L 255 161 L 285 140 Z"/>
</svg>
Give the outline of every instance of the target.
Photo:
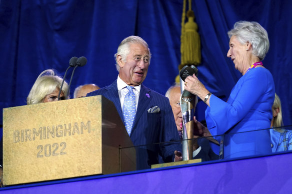
<svg viewBox="0 0 292 194">
<path fill-rule="evenodd" d="M 26 98 L 27 105 L 41 103 L 46 95 L 53 93 L 56 88 L 60 89 L 62 80 L 52 69 L 41 72 Z M 64 81 L 62 92 L 66 94 L 67 91 L 68 84 Z"/>
</svg>

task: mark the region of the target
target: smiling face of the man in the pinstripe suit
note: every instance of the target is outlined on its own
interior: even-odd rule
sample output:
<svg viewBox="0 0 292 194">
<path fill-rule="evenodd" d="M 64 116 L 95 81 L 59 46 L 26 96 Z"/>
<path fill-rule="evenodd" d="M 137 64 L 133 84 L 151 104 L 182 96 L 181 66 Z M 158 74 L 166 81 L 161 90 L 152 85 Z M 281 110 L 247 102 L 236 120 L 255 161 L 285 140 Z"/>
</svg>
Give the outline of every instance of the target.
<svg viewBox="0 0 292 194">
<path fill-rule="evenodd" d="M 149 51 L 141 44 L 131 43 L 129 54 L 123 62 L 120 55 L 117 55 L 117 62 L 120 67 L 119 77 L 129 86 L 140 85 L 148 71 Z"/>
</svg>

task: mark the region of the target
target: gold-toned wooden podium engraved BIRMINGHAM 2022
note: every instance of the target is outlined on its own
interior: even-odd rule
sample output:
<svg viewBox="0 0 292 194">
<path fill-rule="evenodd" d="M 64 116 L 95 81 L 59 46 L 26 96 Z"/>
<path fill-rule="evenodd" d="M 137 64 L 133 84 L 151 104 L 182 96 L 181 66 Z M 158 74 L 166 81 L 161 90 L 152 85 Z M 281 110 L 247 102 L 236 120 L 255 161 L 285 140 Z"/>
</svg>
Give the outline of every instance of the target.
<svg viewBox="0 0 292 194">
<path fill-rule="evenodd" d="M 3 109 L 4 185 L 134 171 L 132 146 L 100 95 Z"/>
</svg>

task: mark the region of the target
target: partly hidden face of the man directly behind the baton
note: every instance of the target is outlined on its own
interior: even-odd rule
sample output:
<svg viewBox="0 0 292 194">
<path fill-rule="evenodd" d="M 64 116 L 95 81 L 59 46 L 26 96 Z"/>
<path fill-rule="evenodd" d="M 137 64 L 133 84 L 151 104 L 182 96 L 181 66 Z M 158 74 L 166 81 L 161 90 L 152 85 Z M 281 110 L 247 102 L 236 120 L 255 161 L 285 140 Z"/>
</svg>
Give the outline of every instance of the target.
<svg viewBox="0 0 292 194">
<path fill-rule="evenodd" d="M 179 127 L 181 123 L 180 120 L 182 118 L 181 110 L 180 110 L 180 87 L 174 87 L 170 90 L 169 103 L 172 108 L 177 130 L 182 131 L 182 129 Z"/>
</svg>

